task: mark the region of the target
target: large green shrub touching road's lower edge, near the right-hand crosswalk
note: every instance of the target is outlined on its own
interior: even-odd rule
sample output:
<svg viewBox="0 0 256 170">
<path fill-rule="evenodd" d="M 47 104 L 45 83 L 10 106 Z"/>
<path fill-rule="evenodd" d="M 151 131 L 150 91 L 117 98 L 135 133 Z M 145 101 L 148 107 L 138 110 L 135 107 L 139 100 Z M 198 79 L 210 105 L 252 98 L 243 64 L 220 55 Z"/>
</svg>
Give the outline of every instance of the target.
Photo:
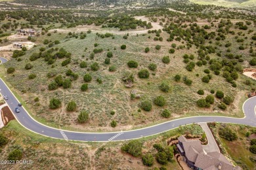
<svg viewBox="0 0 256 170">
<path fill-rule="evenodd" d="M 121 151 L 129 153 L 132 156 L 139 157 L 142 154 L 142 143 L 138 140 L 134 140 L 128 144 L 123 144 L 123 146 L 121 146 Z"/>
</svg>

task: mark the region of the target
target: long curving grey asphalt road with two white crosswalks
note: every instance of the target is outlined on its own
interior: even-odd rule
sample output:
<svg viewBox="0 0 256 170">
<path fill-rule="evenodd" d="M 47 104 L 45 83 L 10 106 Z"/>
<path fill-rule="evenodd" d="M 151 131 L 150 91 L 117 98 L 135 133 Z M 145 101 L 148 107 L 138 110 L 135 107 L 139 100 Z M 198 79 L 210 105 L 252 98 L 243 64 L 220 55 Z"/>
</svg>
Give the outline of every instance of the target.
<svg viewBox="0 0 256 170">
<path fill-rule="evenodd" d="M 194 116 L 189 118 L 181 118 L 177 120 L 171 120 L 169 122 L 165 122 L 163 124 L 158 124 L 156 126 L 150 126 L 142 129 L 136 129 L 132 131 L 117 131 L 110 133 L 83 133 L 83 132 L 75 132 L 75 131 L 66 131 L 61 129 L 54 129 L 53 127 L 45 126 L 35 121 L 30 114 L 24 109 L 24 107 L 20 107 L 20 112 L 16 113 L 15 108 L 18 105 L 18 100 L 12 94 L 11 90 L 7 87 L 5 82 L 0 78 L 0 93 L 2 95 L 7 95 L 8 100 L 7 103 L 11 108 L 16 120 L 20 122 L 20 124 L 26 129 L 33 131 L 35 133 L 39 133 L 41 135 L 45 135 L 47 137 L 53 137 L 56 139 L 66 139 L 66 140 L 74 140 L 74 141 L 121 141 L 121 140 L 130 140 L 137 139 L 140 137 L 146 137 L 150 135 L 155 135 L 158 133 L 162 133 L 164 131 L 168 131 L 170 129 L 174 129 L 175 127 L 184 126 L 187 124 L 200 123 L 200 122 L 226 122 L 233 124 L 244 124 L 248 126 L 256 126 L 256 114 L 255 114 L 255 105 L 256 105 L 256 97 L 251 97 L 247 101 L 245 101 L 243 109 L 245 113 L 244 118 L 229 118 L 223 116 Z"/>
</svg>

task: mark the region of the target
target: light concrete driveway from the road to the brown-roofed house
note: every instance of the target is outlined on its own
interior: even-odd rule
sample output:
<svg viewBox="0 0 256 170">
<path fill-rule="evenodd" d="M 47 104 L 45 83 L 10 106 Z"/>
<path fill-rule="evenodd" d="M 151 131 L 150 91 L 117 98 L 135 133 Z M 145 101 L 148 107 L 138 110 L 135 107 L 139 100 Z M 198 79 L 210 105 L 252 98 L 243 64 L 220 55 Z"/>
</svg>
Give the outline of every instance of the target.
<svg viewBox="0 0 256 170">
<path fill-rule="evenodd" d="M 208 140 L 207 145 L 202 145 L 203 150 L 205 150 L 205 152 L 207 152 L 207 153 L 208 152 L 218 152 L 218 153 L 220 153 L 219 146 L 215 142 L 213 134 L 211 133 L 211 130 L 207 126 L 207 123 L 200 123 L 199 125 L 202 127 L 202 129 L 205 132 L 205 135 L 207 137 L 207 140 Z"/>
</svg>

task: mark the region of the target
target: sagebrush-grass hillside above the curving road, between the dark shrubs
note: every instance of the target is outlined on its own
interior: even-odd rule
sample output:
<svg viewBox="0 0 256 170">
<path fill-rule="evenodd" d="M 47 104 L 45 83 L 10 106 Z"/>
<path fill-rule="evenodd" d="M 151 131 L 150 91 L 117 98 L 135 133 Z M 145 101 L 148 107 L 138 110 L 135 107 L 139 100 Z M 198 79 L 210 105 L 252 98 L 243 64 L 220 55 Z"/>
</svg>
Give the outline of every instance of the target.
<svg viewBox="0 0 256 170">
<path fill-rule="evenodd" d="M 198 24 L 203 22 L 198 20 Z M 236 20 L 232 20 L 236 22 Z M 254 29 L 252 26 L 249 29 Z M 214 31 L 210 29 L 209 31 Z M 240 30 L 233 29 L 236 33 Z M 77 39 L 66 37 L 66 33 L 51 33 L 51 37 L 41 35 L 35 37 L 37 46 L 28 50 L 25 56 L 22 56 L 22 61 L 12 59 L 5 64 L 5 67 L 16 67 L 14 75 L 4 74 L 5 80 L 11 84 L 12 90 L 16 92 L 16 96 L 22 99 L 26 109 L 30 110 L 32 116 L 49 126 L 62 127 L 64 129 L 74 129 L 80 131 L 116 131 L 120 129 L 132 129 L 137 127 L 144 127 L 150 124 L 157 124 L 172 120 L 174 118 L 181 118 L 184 116 L 198 116 L 198 115 L 221 115 L 221 116 L 236 116 L 243 117 L 242 103 L 245 101 L 245 93 L 251 90 L 249 86 L 244 84 L 244 80 L 248 78 L 244 75 L 239 75 L 240 78 L 236 81 L 237 88 L 232 86 L 224 80 L 222 76 L 216 76 L 213 73 L 213 78 L 206 84 L 201 78 L 206 74 L 204 69 L 208 66 L 195 67 L 194 71 L 186 71 L 186 64 L 183 63 L 182 56 L 184 54 L 197 55 L 196 48 L 179 49 L 175 54 L 169 54 L 171 43 L 176 43 L 177 46 L 182 45 L 182 42 L 173 41 L 167 42 L 168 34 L 163 32 L 161 37 L 163 41 L 154 41 L 154 34 L 133 35 L 128 36 L 128 39 L 123 39 L 123 35 L 114 35 L 115 39 L 105 38 L 101 39 L 96 36 L 96 32 L 87 34 L 85 39 Z M 252 34 L 252 33 L 251 33 Z M 79 36 L 79 33 L 77 33 Z M 150 36 L 150 39 L 148 38 Z M 250 35 L 249 35 L 250 36 Z M 45 39 L 59 40 L 61 43 L 54 45 L 54 48 L 64 48 L 72 54 L 72 63 L 62 67 L 61 63 L 64 59 L 58 59 L 53 65 L 48 65 L 43 58 L 35 61 L 30 61 L 30 56 L 34 52 L 39 52 L 39 48 L 45 46 L 42 42 Z M 240 44 L 236 42 L 234 36 L 228 35 L 225 42 L 232 42 L 230 50 L 235 54 L 243 54 L 243 59 L 248 61 L 250 59 L 247 50 L 238 50 Z M 245 39 L 244 44 L 249 44 L 251 40 Z M 94 46 L 95 43 L 99 45 Z M 224 42 L 223 42 L 224 43 Z M 127 49 L 121 50 L 121 44 L 126 44 Z M 161 45 L 160 50 L 156 50 L 156 45 Z M 217 46 L 217 45 L 216 45 Z M 49 49 L 47 46 L 45 46 Z M 145 53 L 144 48 L 149 47 L 150 52 Z M 87 48 L 87 50 L 85 50 Z M 90 59 L 90 54 L 94 48 L 102 48 L 103 52 L 95 54 L 95 58 Z M 219 50 L 224 51 L 224 46 L 218 46 Z M 249 48 L 249 47 L 246 47 Z M 106 53 L 112 51 L 114 54 L 111 58 L 110 65 L 104 64 Z M 169 56 L 171 62 L 164 64 L 161 61 L 163 56 Z M 216 54 L 209 54 L 210 58 L 219 58 Z M 127 62 L 135 60 L 139 63 L 137 69 L 127 67 Z M 98 71 L 91 71 L 89 67 L 81 69 L 79 63 L 86 61 L 88 66 L 93 62 L 100 64 Z M 197 61 L 195 58 L 194 61 Z M 26 63 L 32 63 L 33 68 L 30 70 L 24 69 Z M 140 69 L 147 68 L 150 63 L 158 65 L 157 71 L 150 71 L 150 78 L 141 79 L 137 76 Z M 110 72 L 108 67 L 115 65 L 117 71 Z M 247 67 L 245 64 L 244 67 Z M 53 78 L 47 78 L 47 73 L 54 73 L 62 75 L 66 78 L 66 71 L 72 69 L 74 73 L 79 75 L 79 78 L 72 82 L 72 88 L 63 89 L 58 88 L 54 91 L 49 91 L 47 85 L 53 81 Z M 135 75 L 135 83 L 133 88 L 125 88 L 122 81 L 123 75 L 129 71 Z M 33 80 L 28 79 L 28 75 L 35 74 L 37 77 Z M 93 76 L 93 80 L 89 82 L 89 90 L 81 92 L 80 87 L 83 84 L 83 75 L 89 73 Z M 175 75 L 188 76 L 193 80 L 192 86 L 187 86 L 182 81 L 175 82 L 173 76 Z M 198 76 L 197 76 L 198 74 Z M 97 78 L 102 79 L 102 84 L 96 82 Z M 159 86 L 161 82 L 167 82 L 172 90 L 171 92 L 161 92 Z M 33 84 L 33 85 L 32 85 Z M 198 90 L 204 90 L 204 95 L 198 95 Z M 140 99 L 131 100 L 131 90 L 137 91 L 140 94 Z M 225 95 L 234 95 L 235 101 L 228 106 L 225 111 L 218 109 L 220 100 L 215 99 L 215 104 L 209 109 L 199 109 L 196 106 L 196 101 L 206 95 L 210 94 L 210 90 L 222 90 Z M 153 101 L 158 95 L 165 97 L 167 104 L 164 107 L 153 105 L 150 112 L 141 110 L 139 104 L 145 99 Z M 35 97 L 39 97 L 39 102 L 33 101 Z M 49 101 L 56 97 L 61 99 L 62 107 L 56 110 L 49 110 Z M 69 101 L 74 100 L 77 103 L 77 112 L 67 112 L 66 105 Z M 171 118 L 165 119 L 161 117 L 163 109 L 171 110 Z M 87 110 L 90 115 L 90 120 L 87 124 L 77 124 L 76 118 L 81 110 Z M 114 110 L 116 114 L 111 115 L 110 112 Z M 110 127 L 110 122 L 116 120 L 118 126 L 115 129 Z"/>
</svg>

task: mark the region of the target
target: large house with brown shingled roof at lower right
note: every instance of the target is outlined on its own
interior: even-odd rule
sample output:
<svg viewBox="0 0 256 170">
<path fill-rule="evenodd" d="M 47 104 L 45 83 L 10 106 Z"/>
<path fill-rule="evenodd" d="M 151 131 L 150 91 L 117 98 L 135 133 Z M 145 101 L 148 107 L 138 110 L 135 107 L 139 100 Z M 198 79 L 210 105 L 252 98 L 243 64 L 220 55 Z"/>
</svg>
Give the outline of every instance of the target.
<svg viewBox="0 0 256 170">
<path fill-rule="evenodd" d="M 219 152 L 206 153 L 203 150 L 201 142 L 197 140 L 188 140 L 180 136 L 177 148 L 179 154 L 191 169 L 198 170 L 240 170 L 241 167 L 234 167 L 223 154 Z"/>
</svg>

